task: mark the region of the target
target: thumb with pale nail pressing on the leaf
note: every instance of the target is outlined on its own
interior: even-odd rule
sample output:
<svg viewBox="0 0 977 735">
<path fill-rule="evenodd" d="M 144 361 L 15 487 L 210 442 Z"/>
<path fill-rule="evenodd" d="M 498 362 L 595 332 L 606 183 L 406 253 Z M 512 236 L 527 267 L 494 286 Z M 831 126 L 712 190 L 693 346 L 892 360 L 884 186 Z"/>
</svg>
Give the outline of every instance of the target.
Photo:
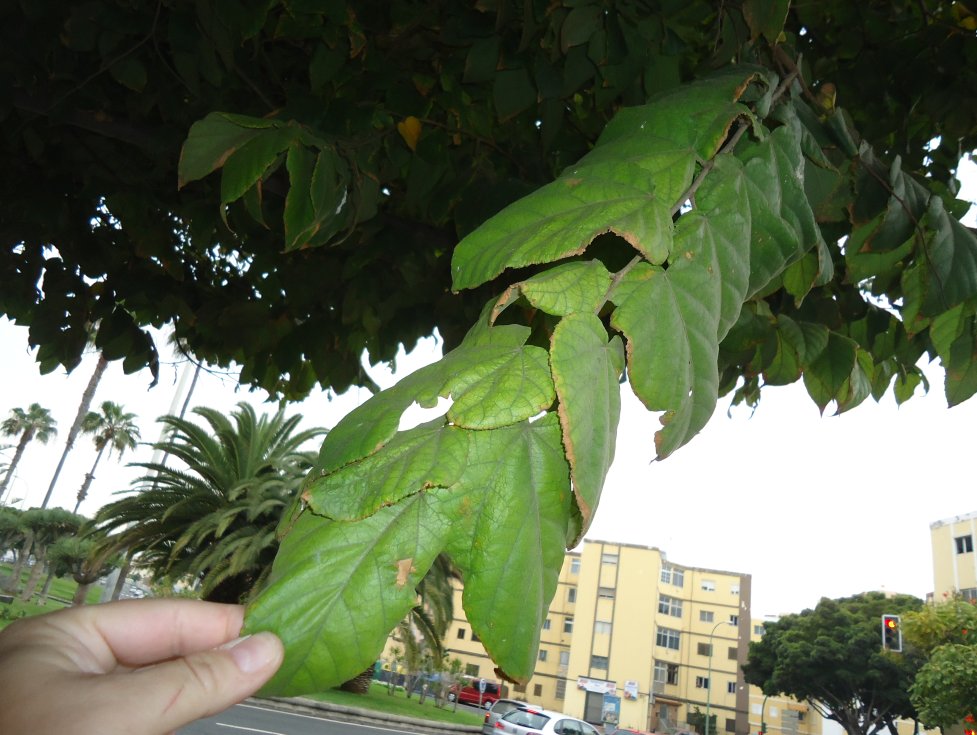
<svg viewBox="0 0 977 735">
<path fill-rule="evenodd" d="M 169 732 L 254 694 L 281 666 L 283 655 L 277 636 L 256 633 L 126 674 L 118 683 L 123 697 L 145 702 L 159 731 Z"/>
</svg>

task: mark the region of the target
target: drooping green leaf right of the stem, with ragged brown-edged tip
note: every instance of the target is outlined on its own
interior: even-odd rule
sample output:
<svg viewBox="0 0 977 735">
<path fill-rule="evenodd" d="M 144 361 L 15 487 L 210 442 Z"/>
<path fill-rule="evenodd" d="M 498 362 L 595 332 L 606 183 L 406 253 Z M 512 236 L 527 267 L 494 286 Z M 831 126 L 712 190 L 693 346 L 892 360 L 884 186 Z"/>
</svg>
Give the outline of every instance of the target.
<svg viewBox="0 0 977 735">
<path fill-rule="evenodd" d="M 735 158 L 718 158 L 696 208 L 679 220 L 668 268 L 636 267 L 611 297 L 635 395 L 666 412 L 659 457 L 692 438 L 716 405 L 719 342 L 739 315 L 750 275 L 745 183 Z"/>
</svg>

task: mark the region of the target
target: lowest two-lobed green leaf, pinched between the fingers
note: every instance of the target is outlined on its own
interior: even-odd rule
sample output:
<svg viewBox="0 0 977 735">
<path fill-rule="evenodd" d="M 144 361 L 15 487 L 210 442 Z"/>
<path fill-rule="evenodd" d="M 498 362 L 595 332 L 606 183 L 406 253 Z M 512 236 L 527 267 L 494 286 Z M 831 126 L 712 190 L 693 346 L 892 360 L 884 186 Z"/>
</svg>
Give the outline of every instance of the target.
<svg viewBox="0 0 977 735">
<path fill-rule="evenodd" d="M 442 551 L 465 577 L 466 615 L 493 659 L 516 681 L 532 675 L 572 502 L 557 417 L 486 431 L 446 428 L 448 453 L 463 459 L 449 488 L 430 479 L 441 471 L 427 462 L 440 455 L 425 449 L 434 431 L 414 432 L 399 447 L 398 459 L 411 451 L 420 458 L 401 464 L 403 483 L 396 472 L 364 472 L 382 475 L 399 502 L 337 521 L 317 513 L 336 507 L 333 492 L 356 496 L 357 481 L 305 495 L 271 581 L 248 609 L 246 630 L 280 631 L 289 651 L 265 693 L 321 691 L 362 671 L 416 603 L 414 587 Z"/>
</svg>

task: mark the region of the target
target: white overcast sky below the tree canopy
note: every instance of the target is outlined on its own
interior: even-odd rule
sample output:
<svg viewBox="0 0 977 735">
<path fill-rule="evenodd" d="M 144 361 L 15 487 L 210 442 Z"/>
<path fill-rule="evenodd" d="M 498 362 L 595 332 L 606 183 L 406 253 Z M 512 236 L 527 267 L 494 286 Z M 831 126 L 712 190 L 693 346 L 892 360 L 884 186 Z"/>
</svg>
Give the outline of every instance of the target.
<svg viewBox="0 0 977 735">
<path fill-rule="evenodd" d="M 975 179 L 965 177 L 963 196 L 971 201 Z M 426 340 L 398 360 L 399 373 L 439 354 L 436 342 Z M 47 446 L 28 448 L 8 489 L 5 502 L 27 508 L 44 497 L 95 358 L 86 357 L 69 375 L 40 376 L 26 329 L 3 319 L 0 355 L 0 419 L 39 402 L 60 429 Z M 143 440 L 154 441 L 156 417 L 179 410 L 173 401 L 181 369 L 164 363 L 150 390 L 148 373 L 126 376 L 112 363 L 93 407 L 122 403 L 139 416 Z M 842 416 L 821 417 L 801 385 L 764 389 L 752 415 L 737 409 L 727 417 L 728 399 L 722 399 L 706 429 L 663 462 L 652 461 L 657 419 L 625 386 L 616 459 L 588 538 L 655 546 L 676 564 L 751 574 L 754 617 L 867 590 L 924 597 L 933 577 L 929 524 L 977 510 L 977 400 L 948 410 L 942 370 L 934 364 L 927 371 L 928 395 L 917 391 L 901 407 L 891 395 L 881 404 L 869 399 Z M 381 385 L 393 382 L 388 370 L 371 372 Z M 331 401 L 317 395 L 287 411 L 300 412 L 305 427 L 330 427 L 368 397 L 362 389 Z M 191 405 L 230 410 L 248 400 L 273 412 L 276 404 L 264 398 L 237 388 L 233 376 L 204 374 Z M 0 445 L 14 443 L 0 438 Z M 8 460 L 12 454 L 12 448 L 4 452 Z M 126 464 L 150 456 L 140 447 L 121 463 L 103 458 L 81 512 L 91 514 L 125 491 L 138 475 Z M 79 438 L 52 506 L 74 507 L 94 457 L 91 440 Z"/>
</svg>

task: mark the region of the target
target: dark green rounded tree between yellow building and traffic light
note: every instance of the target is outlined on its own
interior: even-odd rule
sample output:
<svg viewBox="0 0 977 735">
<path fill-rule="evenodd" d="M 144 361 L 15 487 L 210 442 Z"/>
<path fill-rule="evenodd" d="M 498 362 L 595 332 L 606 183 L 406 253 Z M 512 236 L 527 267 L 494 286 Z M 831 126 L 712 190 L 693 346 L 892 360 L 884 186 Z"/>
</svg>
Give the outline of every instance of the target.
<svg viewBox="0 0 977 735">
<path fill-rule="evenodd" d="M 746 681 L 764 694 L 807 701 L 849 735 L 874 735 L 897 718 L 915 719 L 908 689 L 920 661 L 882 650 L 885 613 L 919 610 L 922 600 L 867 592 L 822 599 L 813 610 L 764 625 L 750 644 Z"/>
</svg>

